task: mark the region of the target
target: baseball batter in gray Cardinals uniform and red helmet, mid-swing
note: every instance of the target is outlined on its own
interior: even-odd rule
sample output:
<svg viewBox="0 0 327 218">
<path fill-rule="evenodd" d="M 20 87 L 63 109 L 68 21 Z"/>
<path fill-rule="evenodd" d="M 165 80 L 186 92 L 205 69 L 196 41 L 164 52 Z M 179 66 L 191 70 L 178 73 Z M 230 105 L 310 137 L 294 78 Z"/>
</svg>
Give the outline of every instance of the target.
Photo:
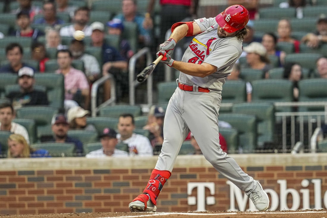
<svg viewBox="0 0 327 218">
<path fill-rule="evenodd" d="M 258 210 L 269 207 L 268 195 L 259 182 L 244 173 L 219 145 L 218 111 L 225 78 L 242 53 L 249 12 L 233 5 L 215 18 L 201 18 L 172 26 L 170 39 L 160 45 L 161 62 L 180 71 L 178 87 L 169 100 L 163 124 L 163 146 L 158 162 L 142 194 L 130 204 L 131 211 L 156 211 L 157 198 L 171 175 L 176 157 L 191 131 L 205 158 L 244 191 Z M 170 57 L 176 43 L 195 36 L 181 61 Z"/>
</svg>

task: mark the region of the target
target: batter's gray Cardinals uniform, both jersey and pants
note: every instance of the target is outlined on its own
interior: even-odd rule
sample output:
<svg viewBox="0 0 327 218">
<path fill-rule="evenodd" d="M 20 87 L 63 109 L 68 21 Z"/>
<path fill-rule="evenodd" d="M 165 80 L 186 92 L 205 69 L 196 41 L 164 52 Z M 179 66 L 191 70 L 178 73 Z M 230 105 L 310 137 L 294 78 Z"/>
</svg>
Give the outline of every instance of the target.
<svg viewBox="0 0 327 218">
<path fill-rule="evenodd" d="M 191 131 L 203 155 L 213 167 L 249 195 L 255 189 L 256 181 L 222 151 L 218 132 L 222 85 L 242 53 L 242 41 L 237 37 L 219 38 L 215 18 L 201 18 L 195 22 L 203 32 L 193 38 L 182 61 L 194 64 L 205 62 L 216 66 L 217 71 L 204 78 L 180 73 L 181 83 L 209 88 L 210 92 L 176 88 L 167 106 L 163 146 L 155 169 L 172 171 L 181 144 Z"/>
</svg>

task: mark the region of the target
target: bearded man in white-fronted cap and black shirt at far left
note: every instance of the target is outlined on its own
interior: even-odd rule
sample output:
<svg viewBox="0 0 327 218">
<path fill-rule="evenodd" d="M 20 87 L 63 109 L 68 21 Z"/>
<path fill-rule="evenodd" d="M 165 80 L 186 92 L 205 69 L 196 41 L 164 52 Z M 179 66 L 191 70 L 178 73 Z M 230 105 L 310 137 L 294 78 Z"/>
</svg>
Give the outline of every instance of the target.
<svg viewBox="0 0 327 218">
<path fill-rule="evenodd" d="M 20 91 L 12 91 L 6 97 L 12 102 L 14 109 L 26 105 L 48 105 L 47 94 L 35 90 L 34 70 L 30 67 L 23 67 L 18 71 L 18 84 Z"/>
</svg>

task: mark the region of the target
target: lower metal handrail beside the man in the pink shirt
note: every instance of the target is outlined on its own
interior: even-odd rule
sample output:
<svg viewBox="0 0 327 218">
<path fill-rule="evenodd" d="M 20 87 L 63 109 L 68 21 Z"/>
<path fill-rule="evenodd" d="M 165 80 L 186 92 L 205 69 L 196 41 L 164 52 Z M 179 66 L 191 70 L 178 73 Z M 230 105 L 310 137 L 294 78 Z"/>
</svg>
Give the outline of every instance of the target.
<svg viewBox="0 0 327 218">
<path fill-rule="evenodd" d="M 96 106 L 96 101 L 97 101 L 97 93 L 98 93 L 98 88 L 101 84 L 106 82 L 107 80 L 110 80 L 111 83 L 111 88 L 110 88 L 110 99 L 106 100 L 99 106 Z M 92 84 L 91 88 L 91 111 L 92 111 L 92 117 L 96 117 L 96 113 L 103 107 L 112 104 L 114 105 L 116 101 L 116 83 L 113 78 L 113 75 L 109 73 L 107 76 L 101 77 L 97 81 L 95 81 Z"/>
</svg>

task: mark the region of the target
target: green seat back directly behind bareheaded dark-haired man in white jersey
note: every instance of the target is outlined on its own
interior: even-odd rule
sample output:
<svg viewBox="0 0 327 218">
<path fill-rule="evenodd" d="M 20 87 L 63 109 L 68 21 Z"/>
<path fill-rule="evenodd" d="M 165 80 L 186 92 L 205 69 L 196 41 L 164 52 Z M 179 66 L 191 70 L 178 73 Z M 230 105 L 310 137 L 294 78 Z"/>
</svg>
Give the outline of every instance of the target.
<svg viewBox="0 0 327 218">
<path fill-rule="evenodd" d="M 100 109 L 100 117 L 119 118 L 121 114 L 132 114 L 134 117 L 142 115 L 142 109 L 139 105 L 112 105 Z"/>
</svg>

